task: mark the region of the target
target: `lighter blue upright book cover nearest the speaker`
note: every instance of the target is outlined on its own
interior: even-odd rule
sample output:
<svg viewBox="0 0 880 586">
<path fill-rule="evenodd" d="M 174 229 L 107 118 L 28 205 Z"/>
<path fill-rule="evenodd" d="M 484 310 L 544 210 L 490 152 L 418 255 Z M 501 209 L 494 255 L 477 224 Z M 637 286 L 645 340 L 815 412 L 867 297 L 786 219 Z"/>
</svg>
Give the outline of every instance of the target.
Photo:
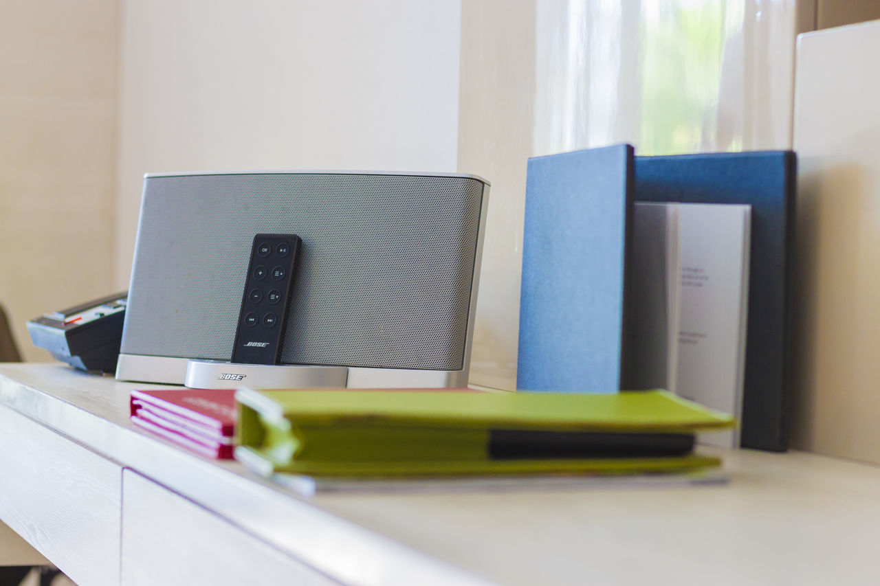
<svg viewBox="0 0 880 586">
<path fill-rule="evenodd" d="M 633 147 L 533 157 L 525 181 L 517 389 L 625 383 Z"/>
</svg>

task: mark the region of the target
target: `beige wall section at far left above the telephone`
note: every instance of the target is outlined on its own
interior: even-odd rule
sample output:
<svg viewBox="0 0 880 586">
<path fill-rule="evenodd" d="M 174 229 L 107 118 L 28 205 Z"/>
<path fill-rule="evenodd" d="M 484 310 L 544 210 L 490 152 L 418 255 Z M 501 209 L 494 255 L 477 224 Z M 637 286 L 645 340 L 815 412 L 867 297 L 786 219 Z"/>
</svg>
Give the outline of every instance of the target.
<svg viewBox="0 0 880 586">
<path fill-rule="evenodd" d="M 25 323 L 113 287 L 116 0 L 0 3 L 0 303 Z"/>
</svg>

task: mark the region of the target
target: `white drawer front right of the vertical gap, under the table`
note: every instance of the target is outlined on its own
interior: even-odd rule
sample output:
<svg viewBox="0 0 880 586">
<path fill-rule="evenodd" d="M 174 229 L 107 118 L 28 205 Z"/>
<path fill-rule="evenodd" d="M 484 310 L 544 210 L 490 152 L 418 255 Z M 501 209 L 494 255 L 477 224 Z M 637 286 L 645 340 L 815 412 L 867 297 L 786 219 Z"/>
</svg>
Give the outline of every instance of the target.
<svg viewBox="0 0 880 586">
<path fill-rule="evenodd" d="M 131 470 L 122 476 L 122 584 L 338 584 Z"/>
</svg>

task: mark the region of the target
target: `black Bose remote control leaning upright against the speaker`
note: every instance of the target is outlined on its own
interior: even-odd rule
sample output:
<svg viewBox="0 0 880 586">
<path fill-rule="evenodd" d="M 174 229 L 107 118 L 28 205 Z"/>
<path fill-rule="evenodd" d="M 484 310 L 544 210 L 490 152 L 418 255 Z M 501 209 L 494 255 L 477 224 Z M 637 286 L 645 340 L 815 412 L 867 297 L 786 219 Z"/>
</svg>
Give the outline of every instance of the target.
<svg viewBox="0 0 880 586">
<path fill-rule="evenodd" d="M 257 234 L 247 266 L 232 362 L 277 364 L 302 240 L 296 234 Z"/>
</svg>

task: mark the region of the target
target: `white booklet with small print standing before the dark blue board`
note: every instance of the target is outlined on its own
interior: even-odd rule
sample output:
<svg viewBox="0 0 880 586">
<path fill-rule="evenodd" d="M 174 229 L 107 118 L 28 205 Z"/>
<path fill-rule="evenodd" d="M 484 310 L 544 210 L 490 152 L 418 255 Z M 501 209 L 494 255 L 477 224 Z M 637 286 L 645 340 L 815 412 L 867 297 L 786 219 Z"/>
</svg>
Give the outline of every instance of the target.
<svg viewBox="0 0 880 586">
<path fill-rule="evenodd" d="M 742 418 L 751 206 L 636 203 L 632 388 Z M 738 429 L 700 443 L 739 445 Z"/>
</svg>

